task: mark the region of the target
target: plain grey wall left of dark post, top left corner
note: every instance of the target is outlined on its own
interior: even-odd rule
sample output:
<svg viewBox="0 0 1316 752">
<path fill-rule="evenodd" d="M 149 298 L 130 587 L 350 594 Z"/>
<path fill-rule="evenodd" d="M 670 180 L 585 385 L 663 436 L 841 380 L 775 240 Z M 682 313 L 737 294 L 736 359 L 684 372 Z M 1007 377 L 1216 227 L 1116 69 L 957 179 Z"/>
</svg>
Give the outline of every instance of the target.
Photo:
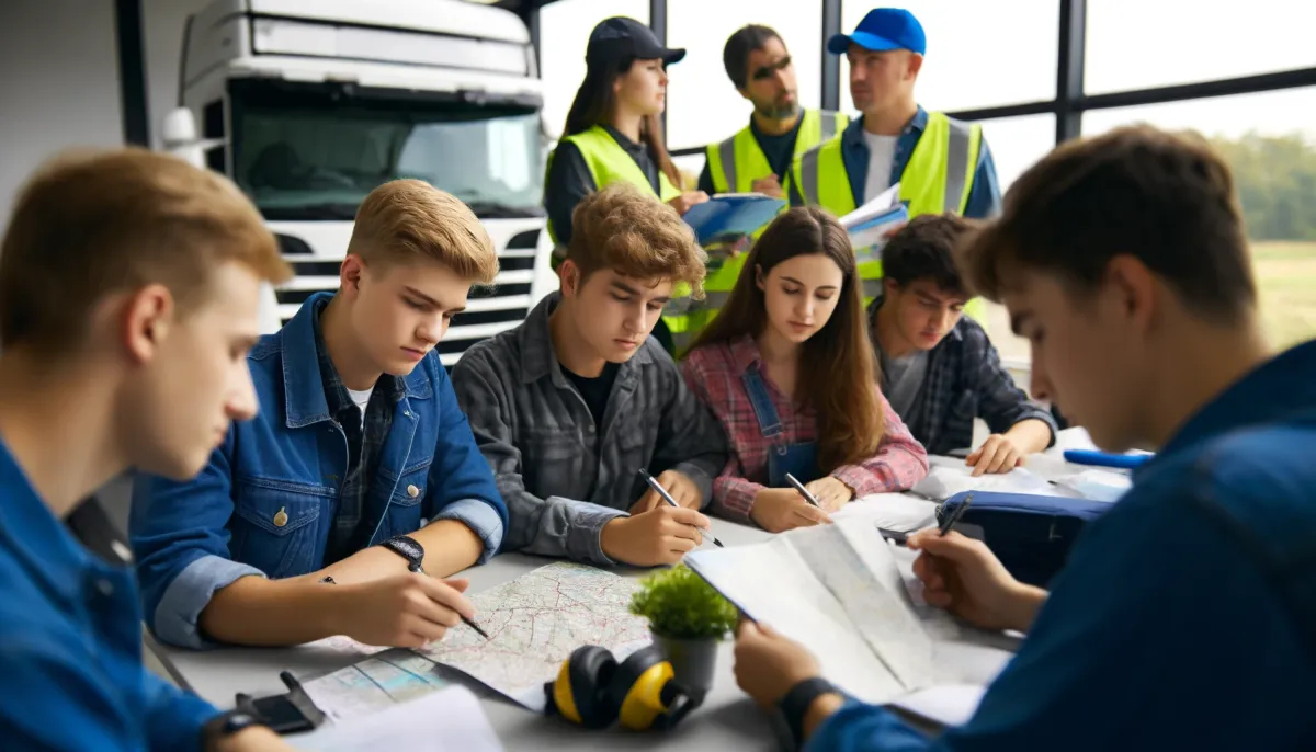
<svg viewBox="0 0 1316 752">
<path fill-rule="evenodd" d="M 0 3 L 0 227 L 24 181 L 71 146 L 120 146 L 113 0 Z"/>
</svg>

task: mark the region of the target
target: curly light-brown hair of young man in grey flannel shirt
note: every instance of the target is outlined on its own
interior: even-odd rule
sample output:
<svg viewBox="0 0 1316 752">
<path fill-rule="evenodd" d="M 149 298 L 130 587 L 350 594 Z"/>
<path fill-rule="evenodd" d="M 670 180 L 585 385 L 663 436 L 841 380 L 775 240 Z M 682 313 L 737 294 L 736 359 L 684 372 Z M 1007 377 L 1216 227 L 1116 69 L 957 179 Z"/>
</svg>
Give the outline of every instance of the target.
<svg viewBox="0 0 1316 752">
<path fill-rule="evenodd" d="M 708 254 L 676 210 L 629 183 L 613 183 L 586 196 L 571 214 L 567 259 L 583 277 L 612 270 L 636 279 L 687 283 L 704 298 Z"/>
</svg>

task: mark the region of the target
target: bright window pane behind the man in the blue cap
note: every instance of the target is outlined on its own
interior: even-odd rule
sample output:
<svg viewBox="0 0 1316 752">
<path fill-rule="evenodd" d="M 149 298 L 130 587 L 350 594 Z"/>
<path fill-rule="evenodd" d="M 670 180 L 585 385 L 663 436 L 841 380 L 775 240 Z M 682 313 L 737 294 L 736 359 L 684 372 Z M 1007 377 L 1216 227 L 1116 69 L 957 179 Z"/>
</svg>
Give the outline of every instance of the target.
<svg viewBox="0 0 1316 752">
<path fill-rule="evenodd" d="M 841 30 L 853 32 L 879 5 L 883 3 L 845 0 Z M 1057 0 L 904 0 L 898 5 L 919 18 L 928 37 L 916 89 L 925 108 L 955 110 L 1055 99 Z M 850 66 L 844 57 L 841 109 L 854 110 Z"/>
</svg>

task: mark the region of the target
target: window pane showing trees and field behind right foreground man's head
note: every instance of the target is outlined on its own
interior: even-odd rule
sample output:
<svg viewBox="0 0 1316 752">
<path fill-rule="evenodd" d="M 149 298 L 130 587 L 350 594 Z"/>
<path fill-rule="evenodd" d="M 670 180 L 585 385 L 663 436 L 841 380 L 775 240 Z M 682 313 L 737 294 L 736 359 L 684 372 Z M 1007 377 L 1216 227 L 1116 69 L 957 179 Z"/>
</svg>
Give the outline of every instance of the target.
<svg viewBox="0 0 1316 752">
<path fill-rule="evenodd" d="M 1211 139 L 1233 168 L 1263 323 L 1280 347 L 1316 337 L 1316 121 L 1308 116 L 1313 112 L 1316 87 L 1083 116 L 1084 134 L 1146 122 L 1196 130 Z"/>
</svg>

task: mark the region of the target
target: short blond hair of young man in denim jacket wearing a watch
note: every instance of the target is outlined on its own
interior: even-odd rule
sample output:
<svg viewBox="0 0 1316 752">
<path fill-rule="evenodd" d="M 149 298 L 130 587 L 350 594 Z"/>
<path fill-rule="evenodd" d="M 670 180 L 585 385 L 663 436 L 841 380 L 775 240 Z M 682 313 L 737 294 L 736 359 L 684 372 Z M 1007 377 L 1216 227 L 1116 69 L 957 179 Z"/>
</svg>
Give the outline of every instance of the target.
<svg viewBox="0 0 1316 752">
<path fill-rule="evenodd" d="M 390 180 L 371 191 L 357 209 L 347 252 L 367 264 L 432 260 L 478 284 L 497 276 L 494 241 L 475 213 L 424 180 Z"/>
</svg>

